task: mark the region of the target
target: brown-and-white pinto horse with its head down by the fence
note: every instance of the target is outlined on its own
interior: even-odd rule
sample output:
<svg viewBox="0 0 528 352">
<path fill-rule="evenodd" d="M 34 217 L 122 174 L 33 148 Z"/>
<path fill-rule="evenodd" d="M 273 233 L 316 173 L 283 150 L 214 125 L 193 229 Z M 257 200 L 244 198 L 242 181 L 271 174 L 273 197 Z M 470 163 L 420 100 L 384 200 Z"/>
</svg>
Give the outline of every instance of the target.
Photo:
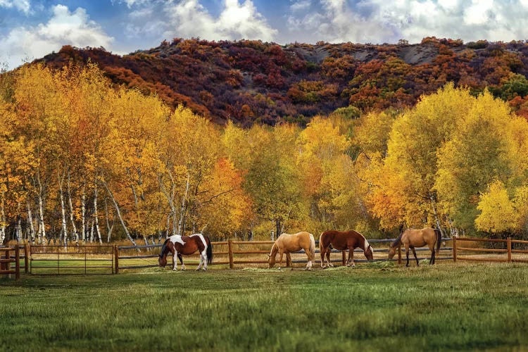
<svg viewBox="0 0 528 352">
<path fill-rule="evenodd" d="M 213 261 L 213 245 L 210 243 L 209 237 L 203 236 L 203 234 L 191 234 L 191 236 L 175 234 L 165 240 L 163 247 L 161 247 L 158 263 L 161 267 L 165 267 L 167 255 L 170 252 L 172 253 L 172 270 L 177 270 L 176 256 L 180 258 L 182 270 L 185 270 L 182 254 L 189 255 L 196 251 L 200 252 L 200 264 L 196 270 L 200 270 L 200 268 L 207 270 L 207 264 Z"/>
</svg>

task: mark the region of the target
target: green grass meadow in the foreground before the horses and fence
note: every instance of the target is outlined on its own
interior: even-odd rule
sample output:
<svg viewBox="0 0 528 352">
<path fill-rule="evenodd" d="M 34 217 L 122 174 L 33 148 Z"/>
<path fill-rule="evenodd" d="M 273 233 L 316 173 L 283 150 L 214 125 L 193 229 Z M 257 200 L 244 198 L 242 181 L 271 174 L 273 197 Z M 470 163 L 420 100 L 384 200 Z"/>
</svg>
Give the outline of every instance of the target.
<svg viewBox="0 0 528 352">
<path fill-rule="evenodd" d="M 0 351 L 528 348 L 528 266 L 0 279 Z"/>
</svg>

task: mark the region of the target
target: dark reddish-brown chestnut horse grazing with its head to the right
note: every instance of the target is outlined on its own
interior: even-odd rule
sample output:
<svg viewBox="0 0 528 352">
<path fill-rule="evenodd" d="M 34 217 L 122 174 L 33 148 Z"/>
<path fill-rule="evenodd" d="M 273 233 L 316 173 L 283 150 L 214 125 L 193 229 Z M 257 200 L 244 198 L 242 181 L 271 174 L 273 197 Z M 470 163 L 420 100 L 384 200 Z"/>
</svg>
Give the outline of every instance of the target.
<svg viewBox="0 0 528 352">
<path fill-rule="evenodd" d="M 339 249 L 340 251 L 346 251 L 348 249 L 348 260 L 346 266 L 354 266 L 354 249 L 363 249 L 363 253 L 367 260 L 374 260 L 374 249 L 368 243 L 367 239 L 354 230 L 350 231 L 325 231 L 319 237 L 319 251 L 321 253 L 321 268 L 327 268 L 327 266 L 334 266 L 330 261 L 330 251 L 332 248 Z M 327 265 L 325 265 L 325 254 L 327 256 Z"/>
</svg>

